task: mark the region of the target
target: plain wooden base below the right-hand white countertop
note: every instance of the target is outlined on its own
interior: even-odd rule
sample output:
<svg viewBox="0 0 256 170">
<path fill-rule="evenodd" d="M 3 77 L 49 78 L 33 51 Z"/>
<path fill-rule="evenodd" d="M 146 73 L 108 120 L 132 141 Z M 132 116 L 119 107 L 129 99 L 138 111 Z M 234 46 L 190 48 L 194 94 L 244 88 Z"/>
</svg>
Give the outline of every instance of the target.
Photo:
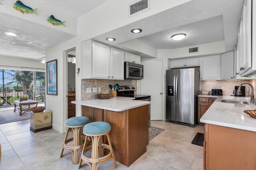
<svg viewBox="0 0 256 170">
<path fill-rule="evenodd" d="M 206 124 L 205 170 L 255 170 L 256 132 Z"/>
</svg>

